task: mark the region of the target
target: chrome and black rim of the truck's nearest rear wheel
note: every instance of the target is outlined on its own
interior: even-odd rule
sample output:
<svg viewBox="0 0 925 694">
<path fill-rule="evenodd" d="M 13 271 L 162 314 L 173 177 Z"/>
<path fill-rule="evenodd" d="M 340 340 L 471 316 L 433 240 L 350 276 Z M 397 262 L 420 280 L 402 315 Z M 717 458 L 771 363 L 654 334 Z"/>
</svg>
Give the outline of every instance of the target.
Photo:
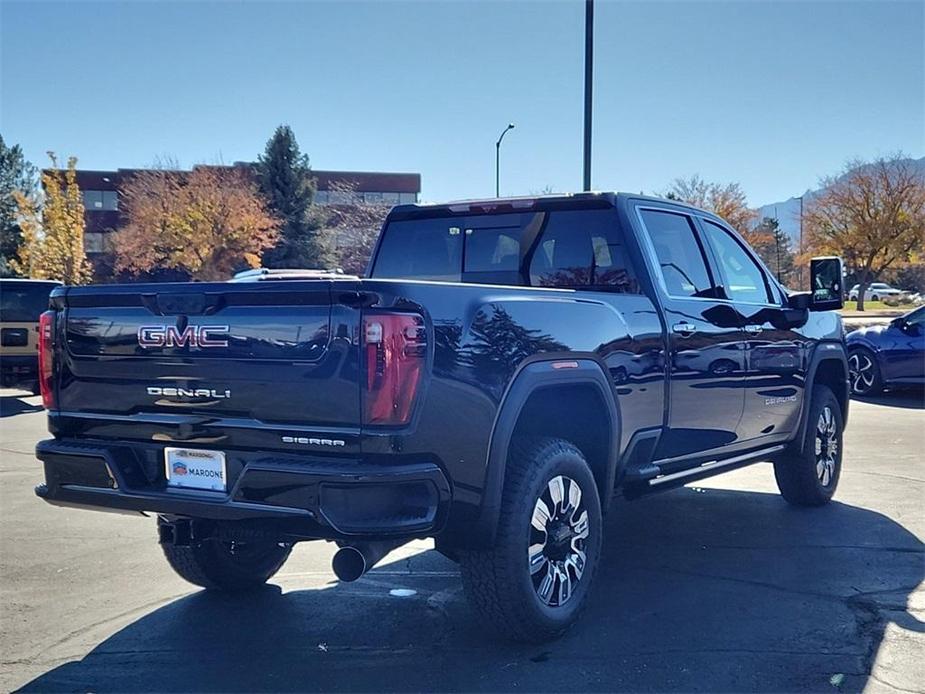
<svg viewBox="0 0 925 694">
<path fill-rule="evenodd" d="M 590 524 L 581 487 L 571 477 L 553 477 L 533 507 L 527 560 L 539 599 L 564 605 L 581 580 Z"/>
</svg>

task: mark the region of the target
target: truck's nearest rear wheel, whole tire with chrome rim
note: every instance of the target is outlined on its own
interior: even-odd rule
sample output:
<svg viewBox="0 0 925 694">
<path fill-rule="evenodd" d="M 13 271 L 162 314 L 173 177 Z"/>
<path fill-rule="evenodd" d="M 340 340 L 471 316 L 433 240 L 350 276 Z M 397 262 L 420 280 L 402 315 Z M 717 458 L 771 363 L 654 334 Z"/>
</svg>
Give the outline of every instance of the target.
<svg viewBox="0 0 925 694">
<path fill-rule="evenodd" d="M 580 491 L 577 502 L 573 484 Z M 537 510 L 541 501 L 550 512 L 548 523 Z M 540 525 L 547 530 L 540 531 Z M 585 528 L 586 537 L 581 537 Z M 504 637 L 527 642 L 557 638 L 587 603 L 601 533 L 597 485 L 581 451 L 556 438 L 515 442 L 494 546 L 459 554 L 466 595 L 483 621 Z"/>
</svg>

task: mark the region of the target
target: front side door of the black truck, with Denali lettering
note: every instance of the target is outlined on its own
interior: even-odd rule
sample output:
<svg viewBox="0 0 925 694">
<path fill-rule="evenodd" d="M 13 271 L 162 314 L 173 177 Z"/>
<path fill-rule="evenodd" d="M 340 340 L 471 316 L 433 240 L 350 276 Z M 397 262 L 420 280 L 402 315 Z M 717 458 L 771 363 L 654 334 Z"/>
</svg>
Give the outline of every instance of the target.
<svg viewBox="0 0 925 694">
<path fill-rule="evenodd" d="M 744 242 L 716 221 L 698 218 L 716 262 L 723 297 L 745 332 L 745 407 L 737 435 L 755 444 L 788 438 L 803 402 L 805 339 L 784 320 L 786 298 Z"/>
</svg>

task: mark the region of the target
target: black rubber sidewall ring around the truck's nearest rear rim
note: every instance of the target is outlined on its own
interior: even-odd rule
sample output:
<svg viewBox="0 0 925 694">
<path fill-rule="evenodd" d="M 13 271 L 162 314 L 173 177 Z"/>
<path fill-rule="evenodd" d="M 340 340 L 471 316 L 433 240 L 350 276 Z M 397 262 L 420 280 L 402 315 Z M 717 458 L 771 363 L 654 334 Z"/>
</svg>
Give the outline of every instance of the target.
<svg viewBox="0 0 925 694">
<path fill-rule="evenodd" d="M 543 604 L 536 594 L 529 570 L 528 552 L 534 505 L 550 480 L 558 475 L 570 477 L 578 483 L 585 508 L 588 511 L 589 534 L 585 548 L 585 571 L 581 580 L 578 581 L 572 596 L 564 605 L 549 607 Z M 515 527 L 511 528 L 511 539 L 514 541 L 511 542 L 513 546 L 508 548 L 509 551 L 513 552 L 512 558 L 515 562 L 515 568 L 518 565 L 516 562 L 519 562 L 521 567 L 519 571 L 515 571 L 515 580 L 520 583 L 517 594 L 523 596 L 522 609 L 530 614 L 533 620 L 542 624 L 545 630 L 562 630 L 575 620 L 587 601 L 600 559 L 602 519 L 597 485 L 588 464 L 580 455 L 568 451 L 559 451 L 540 462 L 539 469 L 523 491 L 525 500 L 523 512 L 517 514 L 514 523 Z"/>
</svg>

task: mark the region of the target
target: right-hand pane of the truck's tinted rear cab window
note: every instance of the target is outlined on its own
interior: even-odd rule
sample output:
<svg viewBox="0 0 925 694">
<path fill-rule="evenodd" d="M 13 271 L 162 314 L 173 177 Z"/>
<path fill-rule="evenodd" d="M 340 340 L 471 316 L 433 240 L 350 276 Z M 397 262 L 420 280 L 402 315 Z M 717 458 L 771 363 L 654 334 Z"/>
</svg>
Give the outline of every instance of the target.
<svg viewBox="0 0 925 694">
<path fill-rule="evenodd" d="M 617 220 L 609 210 L 550 212 L 532 249 L 530 284 L 640 292 Z"/>
</svg>

